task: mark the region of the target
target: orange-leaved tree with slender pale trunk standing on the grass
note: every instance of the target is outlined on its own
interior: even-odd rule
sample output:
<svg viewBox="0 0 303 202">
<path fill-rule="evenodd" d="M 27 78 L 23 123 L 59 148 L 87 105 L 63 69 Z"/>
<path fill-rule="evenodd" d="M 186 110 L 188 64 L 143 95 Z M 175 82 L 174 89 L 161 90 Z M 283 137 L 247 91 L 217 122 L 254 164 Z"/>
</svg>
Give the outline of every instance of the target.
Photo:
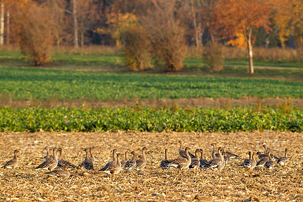
<svg viewBox="0 0 303 202">
<path fill-rule="evenodd" d="M 232 38 L 242 33 L 247 43 L 249 73 L 254 74 L 252 62 L 252 30 L 268 29 L 271 17 L 271 1 L 268 0 L 219 0 L 216 5 L 217 29 L 224 37 Z"/>
</svg>

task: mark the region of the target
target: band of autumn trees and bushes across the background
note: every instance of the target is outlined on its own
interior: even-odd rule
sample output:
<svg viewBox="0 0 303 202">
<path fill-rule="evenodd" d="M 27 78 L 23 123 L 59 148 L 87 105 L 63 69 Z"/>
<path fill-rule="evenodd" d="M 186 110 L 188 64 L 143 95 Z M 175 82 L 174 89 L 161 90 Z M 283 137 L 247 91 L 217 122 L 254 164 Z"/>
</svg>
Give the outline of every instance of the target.
<svg viewBox="0 0 303 202">
<path fill-rule="evenodd" d="M 169 71 L 183 67 L 188 44 L 217 53 L 224 44 L 247 48 L 254 73 L 254 44 L 303 46 L 302 9 L 301 0 L 1 0 L 0 44 L 20 44 L 36 65 L 53 45 L 119 45 L 130 68 L 158 57 Z"/>
</svg>

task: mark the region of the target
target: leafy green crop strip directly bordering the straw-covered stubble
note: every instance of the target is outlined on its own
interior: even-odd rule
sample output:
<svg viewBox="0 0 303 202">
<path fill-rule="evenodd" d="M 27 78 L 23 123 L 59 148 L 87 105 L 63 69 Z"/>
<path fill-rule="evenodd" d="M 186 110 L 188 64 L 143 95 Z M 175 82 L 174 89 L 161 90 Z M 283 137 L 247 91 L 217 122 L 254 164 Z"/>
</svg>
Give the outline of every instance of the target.
<svg viewBox="0 0 303 202">
<path fill-rule="evenodd" d="M 303 111 L 226 109 L 0 108 L 0 131 L 303 131 Z"/>
</svg>

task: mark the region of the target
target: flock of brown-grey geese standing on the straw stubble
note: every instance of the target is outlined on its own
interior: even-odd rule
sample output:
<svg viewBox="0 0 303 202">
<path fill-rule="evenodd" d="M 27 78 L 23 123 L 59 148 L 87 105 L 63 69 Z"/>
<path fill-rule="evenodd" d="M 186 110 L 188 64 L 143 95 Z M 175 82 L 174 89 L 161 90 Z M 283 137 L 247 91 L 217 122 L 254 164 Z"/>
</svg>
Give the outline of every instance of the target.
<svg viewBox="0 0 303 202">
<path fill-rule="evenodd" d="M 179 155 L 180 157 L 177 159 L 169 160 L 167 157 L 168 149 L 165 149 L 165 159 L 161 161 L 160 167 L 164 170 L 169 170 L 170 167 L 178 169 L 180 175 L 182 174 L 182 170 L 189 169 L 190 171 L 197 169 L 205 169 L 205 170 L 222 170 L 225 165 L 231 159 L 239 159 L 238 155 L 235 155 L 229 151 L 226 151 L 224 147 L 218 147 L 215 149 L 215 144 L 212 144 L 212 159 L 207 161 L 204 159 L 203 149 L 196 149 L 194 155 L 189 152 L 189 147 L 185 147 L 182 150 L 182 141 L 179 141 Z M 265 169 L 272 170 L 275 166 L 275 161 L 277 160 L 277 165 L 286 166 L 289 162 L 287 158 L 287 148 L 285 149 L 284 157 L 278 158 L 271 154 L 271 149 L 267 148 L 266 144 L 263 144 L 264 153 L 258 151 L 257 153 L 251 153 L 249 151 L 249 158 L 245 159 L 242 164 L 239 166 L 243 167 L 243 169 L 252 170 L 256 167 L 264 167 Z M 75 166 L 74 164 L 63 159 L 63 149 L 62 148 L 53 148 L 53 158 L 49 156 L 48 147 L 45 146 L 46 150 L 45 161 L 35 167 L 36 170 L 44 169 L 48 170 L 45 175 L 53 176 L 53 177 L 63 177 L 68 178 L 70 173 L 68 171 L 69 168 L 80 169 L 84 167 L 86 170 L 94 170 L 95 158 L 92 154 L 92 149 L 94 147 L 83 149 L 86 153 L 84 161 L 79 165 Z M 115 180 L 115 175 L 118 174 L 122 168 L 128 171 L 140 171 L 143 170 L 146 165 L 145 151 L 147 148 L 144 146 L 142 148 L 142 154 L 139 159 L 136 160 L 136 153 L 132 151 L 129 153 L 125 152 L 125 160 L 121 161 L 121 155 L 117 154 L 117 149 L 113 149 L 113 161 L 108 162 L 102 169 L 98 170 L 99 172 L 104 172 L 110 175 L 110 178 Z M 57 157 L 57 152 L 59 151 L 59 158 Z M 215 151 L 218 151 L 215 153 Z M 8 161 L 2 168 L 10 168 L 14 169 L 18 165 L 18 150 L 14 151 L 14 159 Z M 89 157 L 89 155 L 90 157 Z M 129 159 L 128 155 L 132 154 L 132 158 Z M 259 161 L 257 162 L 256 156 L 258 155 Z"/>
</svg>

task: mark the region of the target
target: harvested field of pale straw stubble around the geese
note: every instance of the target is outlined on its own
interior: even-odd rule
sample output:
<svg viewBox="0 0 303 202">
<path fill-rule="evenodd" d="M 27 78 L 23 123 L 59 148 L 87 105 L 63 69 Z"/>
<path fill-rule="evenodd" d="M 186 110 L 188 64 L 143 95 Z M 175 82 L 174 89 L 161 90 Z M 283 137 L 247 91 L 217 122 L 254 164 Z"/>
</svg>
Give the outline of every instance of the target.
<svg viewBox="0 0 303 202">
<path fill-rule="evenodd" d="M 0 133 L 0 164 L 12 159 L 19 149 L 16 170 L 0 170 L 0 200 L 9 201 L 302 201 L 302 133 L 291 132 L 238 132 L 238 133 Z M 160 162 L 164 149 L 168 158 L 178 157 L 179 139 L 193 152 L 203 148 L 210 159 L 215 142 L 241 156 L 231 160 L 222 171 L 187 170 L 180 178 L 178 171 L 162 172 Z M 284 156 L 289 148 L 287 168 L 275 167 L 273 172 L 256 169 L 242 172 L 239 165 L 247 158 L 248 150 L 263 151 L 266 142 L 276 156 Z M 120 172 L 116 181 L 106 174 L 71 170 L 69 179 L 48 178 L 33 168 L 43 162 L 45 145 L 65 149 L 65 159 L 80 164 L 84 159 L 81 149 L 94 145 L 96 169 L 111 160 L 111 151 L 119 153 L 147 146 L 147 165 L 144 172 Z M 124 158 L 123 158 L 124 159 Z"/>
</svg>

